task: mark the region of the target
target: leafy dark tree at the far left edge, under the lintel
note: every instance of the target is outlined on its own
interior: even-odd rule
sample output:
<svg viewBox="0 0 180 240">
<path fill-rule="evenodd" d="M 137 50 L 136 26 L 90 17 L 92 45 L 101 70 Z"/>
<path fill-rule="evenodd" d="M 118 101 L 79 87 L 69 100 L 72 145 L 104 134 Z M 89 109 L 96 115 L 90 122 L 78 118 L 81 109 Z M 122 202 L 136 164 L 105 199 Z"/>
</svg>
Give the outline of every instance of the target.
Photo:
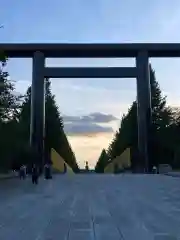
<svg viewBox="0 0 180 240">
<path fill-rule="evenodd" d="M 5 71 L 7 59 L 0 61 L 0 169 L 11 167 L 13 151 L 17 143 L 16 120 L 18 97 L 14 93 L 14 84 Z"/>
</svg>

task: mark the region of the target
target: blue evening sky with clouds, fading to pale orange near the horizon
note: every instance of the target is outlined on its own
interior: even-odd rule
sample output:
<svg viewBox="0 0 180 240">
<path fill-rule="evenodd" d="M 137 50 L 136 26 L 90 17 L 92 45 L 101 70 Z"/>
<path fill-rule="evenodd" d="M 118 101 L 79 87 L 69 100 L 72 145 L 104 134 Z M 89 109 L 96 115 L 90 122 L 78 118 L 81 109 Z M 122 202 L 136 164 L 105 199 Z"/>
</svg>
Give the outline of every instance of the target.
<svg viewBox="0 0 180 240">
<path fill-rule="evenodd" d="M 0 16 L 1 43 L 180 42 L 179 0 L 6 0 L 1 2 Z M 180 106 L 180 61 L 150 62 L 168 105 Z M 135 66 L 135 61 L 47 59 L 46 65 Z M 31 84 L 31 60 L 10 59 L 7 67 L 11 79 L 16 81 L 16 91 L 24 93 Z M 74 126 L 67 134 L 79 165 L 83 167 L 88 159 L 93 167 L 119 127 L 122 114 L 136 98 L 135 79 L 53 79 L 52 92 L 62 115 L 82 117 L 99 113 L 105 118 L 108 114 L 116 117 L 108 122 L 103 117 L 101 122 L 86 121 L 86 125 L 77 119 L 65 121 L 65 126 Z M 78 132 L 79 126 L 87 127 L 87 133 Z"/>
</svg>

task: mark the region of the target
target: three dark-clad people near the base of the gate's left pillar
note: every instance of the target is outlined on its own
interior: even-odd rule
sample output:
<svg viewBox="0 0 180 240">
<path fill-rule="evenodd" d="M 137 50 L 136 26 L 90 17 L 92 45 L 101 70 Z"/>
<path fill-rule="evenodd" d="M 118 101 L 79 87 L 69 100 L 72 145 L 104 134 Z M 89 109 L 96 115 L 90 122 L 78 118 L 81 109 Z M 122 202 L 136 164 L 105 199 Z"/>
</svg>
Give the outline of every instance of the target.
<svg viewBox="0 0 180 240">
<path fill-rule="evenodd" d="M 27 175 L 27 168 L 25 165 L 22 165 L 19 169 L 19 177 L 20 179 L 25 179 Z M 31 169 L 31 179 L 33 184 L 38 184 L 38 179 L 39 179 L 40 171 L 39 168 L 36 164 L 33 164 L 32 169 Z M 45 179 L 51 179 L 51 167 L 49 164 L 44 165 L 44 177 Z"/>
</svg>

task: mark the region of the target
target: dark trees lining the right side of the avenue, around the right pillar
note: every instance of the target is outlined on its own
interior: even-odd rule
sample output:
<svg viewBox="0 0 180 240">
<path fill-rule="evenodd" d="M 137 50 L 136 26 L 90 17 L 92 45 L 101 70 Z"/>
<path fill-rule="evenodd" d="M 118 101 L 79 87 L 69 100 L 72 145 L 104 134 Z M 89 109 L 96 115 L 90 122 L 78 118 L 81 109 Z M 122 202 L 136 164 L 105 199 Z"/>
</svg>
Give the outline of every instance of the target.
<svg viewBox="0 0 180 240">
<path fill-rule="evenodd" d="M 167 106 L 155 77 L 155 71 L 150 66 L 152 124 L 149 130 L 148 152 L 149 169 L 153 165 L 170 164 L 180 168 L 180 112 Z M 126 149 L 131 150 L 131 168 L 136 171 L 144 163 L 138 157 L 137 101 L 135 100 L 127 114 L 121 119 L 120 128 L 115 133 L 108 149 L 103 149 L 97 161 L 95 171 L 104 172 L 110 160 Z"/>
</svg>

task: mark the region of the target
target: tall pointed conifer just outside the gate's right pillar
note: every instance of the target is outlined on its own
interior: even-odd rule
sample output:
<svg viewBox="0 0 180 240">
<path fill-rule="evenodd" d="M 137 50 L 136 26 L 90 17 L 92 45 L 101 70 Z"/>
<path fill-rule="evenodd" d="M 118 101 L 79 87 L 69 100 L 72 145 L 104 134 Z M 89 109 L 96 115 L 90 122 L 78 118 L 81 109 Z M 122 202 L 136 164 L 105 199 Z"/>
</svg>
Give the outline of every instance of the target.
<svg viewBox="0 0 180 240">
<path fill-rule="evenodd" d="M 150 167 L 172 161 L 168 132 L 172 122 L 172 111 L 166 106 L 166 97 L 162 96 L 155 72 L 150 68 L 152 128 L 149 157 Z M 168 140 L 168 141 L 167 141 Z"/>
</svg>

